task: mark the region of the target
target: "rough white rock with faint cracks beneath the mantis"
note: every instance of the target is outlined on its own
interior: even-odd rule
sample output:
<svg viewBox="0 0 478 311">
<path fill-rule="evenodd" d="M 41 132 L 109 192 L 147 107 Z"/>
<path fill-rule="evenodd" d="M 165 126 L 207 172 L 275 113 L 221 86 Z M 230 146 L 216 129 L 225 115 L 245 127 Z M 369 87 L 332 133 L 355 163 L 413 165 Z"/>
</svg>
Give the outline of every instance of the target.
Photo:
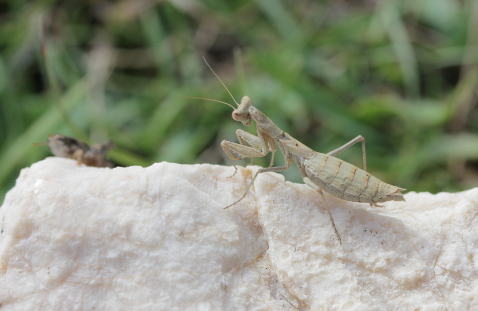
<svg viewBox="0 0 478 311">
<path fill-rule="evenodd" d="M 384 208 L 257 167 L 48 158 L 0 208 L 3 310 L 477 309 L 478 188 Z M 294 307 L 292 307 L 293 305 Z"/>
</svg>

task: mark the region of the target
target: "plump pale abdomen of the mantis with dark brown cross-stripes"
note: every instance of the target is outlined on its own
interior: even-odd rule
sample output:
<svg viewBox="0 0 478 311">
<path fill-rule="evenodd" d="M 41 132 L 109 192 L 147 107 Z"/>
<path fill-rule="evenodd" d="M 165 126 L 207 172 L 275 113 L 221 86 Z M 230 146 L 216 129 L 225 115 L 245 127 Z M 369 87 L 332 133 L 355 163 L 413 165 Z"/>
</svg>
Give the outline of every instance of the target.
<svg viewBox="0 0 478 311">
<path fill-rule="evenodd" d="M 305 172 L 314 184 L 340 199 L 378 203 L 405 201 L 399 187 L 382 182 L 350 163 L 320 152 L 303 158 Z"/>
</svg>

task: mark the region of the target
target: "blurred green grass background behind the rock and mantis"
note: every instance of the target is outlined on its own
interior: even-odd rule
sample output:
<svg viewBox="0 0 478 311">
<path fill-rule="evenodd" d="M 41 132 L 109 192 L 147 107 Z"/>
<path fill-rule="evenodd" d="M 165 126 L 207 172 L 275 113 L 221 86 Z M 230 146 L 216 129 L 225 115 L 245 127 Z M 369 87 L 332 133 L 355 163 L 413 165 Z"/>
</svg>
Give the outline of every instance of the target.
<svg viewBox="0 0 478 311">
<path fill-rule="evenodd" d="M 478 186 L 476 1 L 11 0 L 0 16 L 2 201 L 50 155 L 31 145 L 48 133 L 113 139 L 121 166 L 230 165 L 220 141 L 244 126 L 230 107 L 183 98 L 232 103 L 202 55 L 237 101 L 249 95 L 314 150 L 361 134 L 386 182 Z M 360 167 L 360 145 L 339 157 Z"/>
</svg>

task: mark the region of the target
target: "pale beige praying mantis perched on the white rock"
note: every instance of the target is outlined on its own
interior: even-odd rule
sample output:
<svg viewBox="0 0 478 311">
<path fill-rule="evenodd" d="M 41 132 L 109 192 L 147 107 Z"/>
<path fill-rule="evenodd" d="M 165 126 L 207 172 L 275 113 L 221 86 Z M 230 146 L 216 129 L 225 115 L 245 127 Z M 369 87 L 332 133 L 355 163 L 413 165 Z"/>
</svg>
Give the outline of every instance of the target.
<svg viewBox="0 0 478 311">
<path fill-rule="evenodd" d="M 204 61 L 206 61 L 205 58 Z M 217 76 L 214 70 L 212 70 L 207 61 L 206 64 L 217 79 L 219 79 L 219 76 Z M 220 79 L 219 81 L 227 90 L 224 83 L 222 83 Z M 227 90 L 227 92 L 232 97 L 232 100 L 234 100 L 234 97 L 229 90 Z M 234 109 L 232 112 L 232 118 L 236 121 L 241 121 L 246 126 L 250 126 L 254 120 L 256 123 L 257 136 L 238 129 L 236 130 L 236 135 L 239 143 L 227 140 L 221 142 L 222 149 L 231 161 L 232 166 L 235 168 L 232 176 L 237 172 L 237 168 L 232 160 L 264 157 L 269 152 L 272 152 L 272 160 L 268 168 L 262 168 L 256 172 L 244 195 L 237 201 L 224 207 L 224 209 L 229 208 L 244 199 L 259 174 L 266 172 L 282 172 L 289 169 L 292 163 L 294 163 L 299 169 L 304 183 L 321 194 L 340 244 L 342 244 L 342 240 L 337 231 L 334 217 L 330 212 L 324 191 L 338 197 L 339 199 L 352 202 L 370 203 L 371 205 L 377 205 L 376 203 L 392 200 L 405 201 L 402 191 L 406 189 L 382 182 L 366 172 L 365 139 L 361 135 L 329 153 L 316 152 L 275 125 L 271 119 L 253 106 L 252 100 L 249 96 L 244 96 L 241 100 L 241 104 L 238 104 L 235 100 L 234 102 L 236 103 L 237 108 L 224 103 Z M 362 142 L 363 170 L 350 163 L 335 158 L 335 155 L 359 141 Z M 274 153 L 277 150 L 277 146 L 279 147 L 280 152 L 284 155 L 285 165 L 274 167 Z M 235 154 L 237 154 L 237 156 Z"/>
</svg>

